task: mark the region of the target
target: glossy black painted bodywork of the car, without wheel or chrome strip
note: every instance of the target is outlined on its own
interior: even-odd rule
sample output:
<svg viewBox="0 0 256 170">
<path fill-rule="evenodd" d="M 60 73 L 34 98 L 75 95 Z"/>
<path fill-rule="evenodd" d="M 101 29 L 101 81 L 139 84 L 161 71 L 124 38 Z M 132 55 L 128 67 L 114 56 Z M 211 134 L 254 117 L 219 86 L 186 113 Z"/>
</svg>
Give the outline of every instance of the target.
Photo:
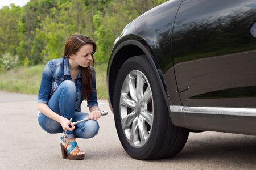
<svg viewBox="0 0 256 170">
<path fill-rule="evenodd" d="M 252 0 L 175 0 L 135 19 L 123 30 L 110 55 L 110 108 L 122 63 L 141 54 L 150 59 L 159 82 L 163 77 L 160 88 L 163 95 L 170 96 L 167 105 L 255 108 L 256 39 L 250 32 L 256 21 L 255 10 L 256 1 Z M 174 124 L 183 122 L 178 126 L 240 133 L 239 128 L 233 128 L 235 122 L 218 129 L 218 125 L 226 126 L 229 116 L 213 116 L 214 127 L 209 126 L 209 117 L 192 115 L 189 121 L 185 117 L 171 115 Z M 250 120 L 241 133 L 255 122 L 255 117 L 233 119 L 243 124 Z"/>
</svg>

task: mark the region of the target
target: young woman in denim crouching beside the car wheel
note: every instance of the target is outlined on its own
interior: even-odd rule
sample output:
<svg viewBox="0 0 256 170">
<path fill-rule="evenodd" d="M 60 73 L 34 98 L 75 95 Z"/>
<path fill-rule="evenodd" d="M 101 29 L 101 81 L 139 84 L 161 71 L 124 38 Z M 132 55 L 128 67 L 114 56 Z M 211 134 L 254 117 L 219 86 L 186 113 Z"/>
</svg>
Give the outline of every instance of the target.
<svg viewBox="0 0 256 170">
<path fill-rule="evenodd" d="M 83 159 L 75 138 L 92 138 L 98 133 L 97 119 L 101 117 L 96 94 L 94 59 L 96 43 L 87 36 L 75 34 L 65 44 L 63 58 L 53 59 L 43 71 L 38 95 L 39 125 L 48 133 L 64 133 L 61 138 L 63 158 Z M 81 112 L 87 100 L 90 114 Z M 70 123 L 90 117 L 77 125 Z"/>
</svg>

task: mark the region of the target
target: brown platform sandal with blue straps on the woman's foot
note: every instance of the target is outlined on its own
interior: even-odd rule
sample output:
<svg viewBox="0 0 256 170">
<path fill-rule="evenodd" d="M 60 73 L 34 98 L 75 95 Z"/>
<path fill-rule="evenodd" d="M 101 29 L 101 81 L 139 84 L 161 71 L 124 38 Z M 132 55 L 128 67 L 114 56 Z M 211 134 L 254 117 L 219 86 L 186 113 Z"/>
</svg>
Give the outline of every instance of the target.
<svg viewBox="0 0 256 170">
<path fill-rule="evenodd" d="M 74 151 L 74 152 L 72 152 L 72 154 L 70 154 L 70 152 L 71 152 L 75 147 L 78 147 L 76 142 L 65 141 L 65 140 L 63 139 L 63 137 L 61 137 L 60 139 L 65 143 L 65 146 L 62 145 L 62 143 L 60 143 L 61 152 L 62 152 L 62 158 L 63 158 L 63 159 L 67 159 L 67 158 L 70 159 L 70 160 L 84 159 L 84 155 L 85 155 L 85 154 L 77 155 L 78 152 L 81 152 L 80 150 Z M 68 146 L 68 145 L 72 145 L 72 146 L 67 150 L 67 146 Z"/>
</svg>

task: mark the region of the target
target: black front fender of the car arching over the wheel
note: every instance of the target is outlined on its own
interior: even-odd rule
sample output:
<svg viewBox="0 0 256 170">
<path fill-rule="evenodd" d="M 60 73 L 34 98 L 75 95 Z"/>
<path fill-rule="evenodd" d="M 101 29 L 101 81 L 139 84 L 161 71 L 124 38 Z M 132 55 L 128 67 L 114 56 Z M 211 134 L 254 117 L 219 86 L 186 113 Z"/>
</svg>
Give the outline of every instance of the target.
<svg viewBox="0 0 256 170">
<path fill-rule="evenodd" d="M 181 2 L 181 0 L 174 0 L 163 3 L 139 16 L 123 29 L 121 36 L 118 37 L 118 41 L 116 41 L 112 49 L 107 69 L 108 100 L 112 111 L 115 77 L 122 63 L 128 58 L 146 54 L 152 63 L 152 69 L 154 68 L 157 74 L 162 70 L 161 67 L 167 63 L 166 60 L 170 63 L 169 65 L 172 66 L 171 30 Z M 131 44 L 129 44 L 130 42 Z M 133 46 L 130 47 L 129 45 Z M 135 48 L 138 48 L 139 52 L 136 52 Z M 123 53 L 122 50 L 124 51 Z M 161 77 L 162 75 L 158 76 L 159 80 L 161 80 Z M 173 88 L 177 88 L 174 74 L 172 74 L 171 79 L 173 79 Z M 162 82 L 161 85 L 163 93 L 166 93 L 164 82 Z M 174 99 L 177 99 L 180 104 L 179 94 L 175 95 L 177 95 L 177 97 L 174 97 Z M 165 96 L 167 96 L 167 94 L 165 94 Z M 166 102 L 169 103 L 168 99 L 166 99 Z"/>
</svg>

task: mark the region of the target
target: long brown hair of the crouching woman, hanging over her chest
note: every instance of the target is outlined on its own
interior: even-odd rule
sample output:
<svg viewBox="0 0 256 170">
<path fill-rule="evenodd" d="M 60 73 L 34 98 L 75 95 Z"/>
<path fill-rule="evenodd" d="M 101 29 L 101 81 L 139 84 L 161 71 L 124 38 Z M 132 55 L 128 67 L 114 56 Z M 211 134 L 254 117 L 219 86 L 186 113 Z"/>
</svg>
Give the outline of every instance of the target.
<svg viewBox="0 0 256 170">
<path fill-rule="evenodd" d="M 86 45 L 86 44 L 92 44 L 93 45 L 93 52 L 92 52 L 92 58 L 93 54 L 96 52 L 96 42 L 90 39 L 88 36 L 81 35 L 79 33 L 76 33 L 68 38 L 65 44 L 64 49 L 64 57 L 69 57 L 72 54 L 76 54 L 76 52 L 79 51 L 79 49 Z M 94 67 L 94 58 L 93 58 L 93 67 Z M 84 100 L 88 100 L 90 97 L 90 94 L 94 91 L 92 88 L 92 81 L 93 81 L 93 73 L 90 66 L 88 67 L 81 67 L 81 75 L 82 75 L 82 95 L 84 96 Z"/>
</svg>

